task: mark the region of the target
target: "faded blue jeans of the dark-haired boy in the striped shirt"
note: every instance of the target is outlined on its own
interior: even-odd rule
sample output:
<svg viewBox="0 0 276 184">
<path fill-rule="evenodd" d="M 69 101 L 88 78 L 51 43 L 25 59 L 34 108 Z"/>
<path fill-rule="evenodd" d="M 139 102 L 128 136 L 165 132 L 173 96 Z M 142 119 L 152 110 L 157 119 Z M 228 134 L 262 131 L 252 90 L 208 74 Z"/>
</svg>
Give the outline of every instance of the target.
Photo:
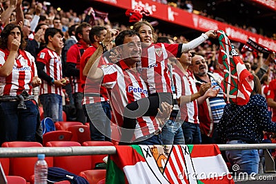
<svg viewBox="0 0 276 184">
<path fill-rule="evenodd" d="M 39 96 L 43 106 L 44 117 L 50 117 L 52 121 L 63 121 L 62 96 L 59 94 L 41 94 Z"/>
</svg>

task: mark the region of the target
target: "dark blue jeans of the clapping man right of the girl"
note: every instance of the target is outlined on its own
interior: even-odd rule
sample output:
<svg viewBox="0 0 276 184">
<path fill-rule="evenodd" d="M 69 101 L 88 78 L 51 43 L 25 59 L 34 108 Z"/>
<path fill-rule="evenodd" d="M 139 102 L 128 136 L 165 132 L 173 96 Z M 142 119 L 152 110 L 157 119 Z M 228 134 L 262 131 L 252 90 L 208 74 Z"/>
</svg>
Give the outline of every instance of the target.
<svg viewBox="0 0 276 184">
<path fill-rule="evenodd" d="M 199 124 L 188 123 L 186 121 L 182 124 L 185 143 L 187 145 L 194 145 L 201 143 L 201 132 Z"/>
</svg>

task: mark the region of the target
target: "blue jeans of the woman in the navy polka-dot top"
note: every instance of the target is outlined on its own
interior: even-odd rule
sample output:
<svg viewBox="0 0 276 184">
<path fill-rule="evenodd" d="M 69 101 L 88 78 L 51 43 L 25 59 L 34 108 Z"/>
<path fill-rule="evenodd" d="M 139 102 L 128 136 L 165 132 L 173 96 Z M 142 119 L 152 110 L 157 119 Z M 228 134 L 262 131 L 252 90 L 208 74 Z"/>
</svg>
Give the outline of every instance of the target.
<svg viewBox="0 0 276 184">
<path fill-rule="evenodd" d="M 246 144 L 244 141 L 227 141 L 226 144 Z M 230 164 L 238 165 L 239 170 L 235 170 L 237 173 L 246 172 L 251 174 L 258 173 L 259 168 L 259 152 L 258 150 L 227 150 L 226 157 Z M 234 167 L 235 169 L 237 167 Z"/>
</svg>

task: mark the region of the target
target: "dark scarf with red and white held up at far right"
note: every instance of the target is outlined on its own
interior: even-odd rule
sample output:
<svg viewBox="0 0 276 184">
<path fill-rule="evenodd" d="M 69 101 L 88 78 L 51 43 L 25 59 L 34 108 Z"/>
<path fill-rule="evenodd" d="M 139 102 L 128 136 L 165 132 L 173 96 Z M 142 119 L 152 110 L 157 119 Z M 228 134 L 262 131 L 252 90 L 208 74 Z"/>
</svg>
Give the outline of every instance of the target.
<svg viewBox="0 0 276 184">
<path fill-rule="evenodd" d="M 260 45 L 259 43 L 256 43 L 252 39 L 248 39 L 248 41 L 246 41 L 246 44 L 244 44 L 244 46 L 242 47 L 242 53 L 246 51 L 261 52 L 264 54 L 264 58 L 267 58 L 268 55 L 271 52 L 273 52 L 273 50 L 266 48 L 264 45 Z"/>
</svg>

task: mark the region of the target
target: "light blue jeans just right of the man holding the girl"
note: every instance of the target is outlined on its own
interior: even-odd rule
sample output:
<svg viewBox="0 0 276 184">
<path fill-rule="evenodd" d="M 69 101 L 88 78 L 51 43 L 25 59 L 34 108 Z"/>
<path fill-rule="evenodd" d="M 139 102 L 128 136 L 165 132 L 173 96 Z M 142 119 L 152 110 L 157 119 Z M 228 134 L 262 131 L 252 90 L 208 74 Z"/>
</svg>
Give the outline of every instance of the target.
<svg viewBox="0 0 276 184">
<path fill-rule="evenodd" d="M 168 120 L 162 127 L 162 139 L 165 145 L 184 145 L 184 135 L 181 128 L 181 122 Z"/>
</svg>

